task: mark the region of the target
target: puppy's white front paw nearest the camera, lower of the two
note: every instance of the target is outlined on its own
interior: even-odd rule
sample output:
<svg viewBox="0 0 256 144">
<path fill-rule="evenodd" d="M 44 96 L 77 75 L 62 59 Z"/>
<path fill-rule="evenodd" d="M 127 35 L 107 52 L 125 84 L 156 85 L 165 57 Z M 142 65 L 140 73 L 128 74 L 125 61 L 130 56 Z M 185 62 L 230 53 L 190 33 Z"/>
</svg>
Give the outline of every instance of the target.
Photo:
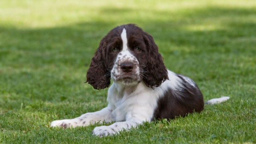
<svg viewBox="0 0 256 144">
<path fill-rule="evenodd" d="M 92 131 L 92 134 L 95 136 L 99 136 L 100 138 L 103 136 L 112 136 L 116 134 L 117 132 L 111 128 L 110 126 L 97 126 Z"/>
</svg>

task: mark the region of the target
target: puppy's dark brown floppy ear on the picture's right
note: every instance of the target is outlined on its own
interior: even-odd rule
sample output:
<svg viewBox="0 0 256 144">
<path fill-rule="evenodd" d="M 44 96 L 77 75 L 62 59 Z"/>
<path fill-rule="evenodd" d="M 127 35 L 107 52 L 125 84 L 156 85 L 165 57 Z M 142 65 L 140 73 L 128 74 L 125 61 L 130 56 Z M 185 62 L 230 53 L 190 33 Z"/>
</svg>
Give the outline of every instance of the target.
<svg viewBox="0 0 256 144">
<path fill-rule="evenodd" d="M 148 49 L 148 64 L 143 81 L 150 88 L 158 87 L 168 79 L 168 72 L 153 37 L 149 34 L 144 34 L 143 38 Z"/>
</svg>

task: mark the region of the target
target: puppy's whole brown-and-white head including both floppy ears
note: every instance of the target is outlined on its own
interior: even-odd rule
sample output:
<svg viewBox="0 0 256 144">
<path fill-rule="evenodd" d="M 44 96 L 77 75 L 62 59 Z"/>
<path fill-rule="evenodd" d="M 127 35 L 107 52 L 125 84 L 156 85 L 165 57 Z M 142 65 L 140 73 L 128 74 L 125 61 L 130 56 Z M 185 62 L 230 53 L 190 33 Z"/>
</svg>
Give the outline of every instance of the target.
<svg viewBox="0 0 256 144">
<path fill-rule="evenodd" d="M 110 78 L 129 86 L 143 81 L 153 88 L 168 79 L 168 73 L 152 36 L 127 24 L 114 28 L 101 40 L 86 77 L 95 89 L 108 87 Z"/>
</svg>

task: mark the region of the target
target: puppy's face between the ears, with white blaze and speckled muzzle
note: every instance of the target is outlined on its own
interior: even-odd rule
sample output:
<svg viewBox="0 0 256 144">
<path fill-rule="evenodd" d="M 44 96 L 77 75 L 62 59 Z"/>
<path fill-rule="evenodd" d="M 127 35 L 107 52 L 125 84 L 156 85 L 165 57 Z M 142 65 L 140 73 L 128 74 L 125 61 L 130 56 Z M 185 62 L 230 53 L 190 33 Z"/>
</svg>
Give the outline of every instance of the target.
<svg viewBox="0 0 256 144">
<path fill-rule="evenodd" d="M 146 67 L 145 64 L 148 62 L 145 54 L 147 49 L 141 34 L 128 33 L 128 36 L 129 39 L 124 28 L 121 33 L 121 39 L 118 37 L 119 42 L 114 42 L 113 46 L 110 47 L 111 53 L 115 57 L 111 78 L 116 83 L 134 85 L 142 80 L 143 68 Z"/>
</svg>

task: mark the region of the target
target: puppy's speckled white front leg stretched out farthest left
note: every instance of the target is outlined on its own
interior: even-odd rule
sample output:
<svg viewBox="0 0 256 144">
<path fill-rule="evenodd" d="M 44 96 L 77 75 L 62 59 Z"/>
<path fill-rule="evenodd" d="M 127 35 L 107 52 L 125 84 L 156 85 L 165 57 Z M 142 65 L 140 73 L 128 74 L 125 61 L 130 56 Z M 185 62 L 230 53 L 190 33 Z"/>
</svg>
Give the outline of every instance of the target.
<svg viewBox="0 0 256 144">
<path fill-rule="evenodd" d="M 51 127 L 62 127 L 62 128 L 70 128 L 76 126 L 88 126 L 89 124 L 93 124 L 95 122 L 111 122 L 114 116 L 112 114 L 112 110 L 109 107 L 103 108 L 97 112 L 88 112 L 74 119 L 66 119 L 66 120 L 54 120 L 51 122 Z"/>
</svg>

